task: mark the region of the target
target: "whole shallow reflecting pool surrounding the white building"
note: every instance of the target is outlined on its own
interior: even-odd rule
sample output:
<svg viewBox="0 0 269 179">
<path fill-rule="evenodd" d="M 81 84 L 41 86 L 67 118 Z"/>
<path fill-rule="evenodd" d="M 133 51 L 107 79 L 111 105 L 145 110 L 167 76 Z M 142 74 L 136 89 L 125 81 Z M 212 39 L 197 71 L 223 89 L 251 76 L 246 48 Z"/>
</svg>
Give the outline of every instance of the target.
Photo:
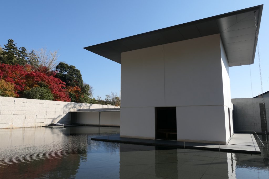
<svg viewBox="0 0 269 179">
<path fill-rule="evenodd" d="M 0 130 L 0 178 L 269 178 L 262 155 L 91 141 L 119 128 Z"/>
</svg>

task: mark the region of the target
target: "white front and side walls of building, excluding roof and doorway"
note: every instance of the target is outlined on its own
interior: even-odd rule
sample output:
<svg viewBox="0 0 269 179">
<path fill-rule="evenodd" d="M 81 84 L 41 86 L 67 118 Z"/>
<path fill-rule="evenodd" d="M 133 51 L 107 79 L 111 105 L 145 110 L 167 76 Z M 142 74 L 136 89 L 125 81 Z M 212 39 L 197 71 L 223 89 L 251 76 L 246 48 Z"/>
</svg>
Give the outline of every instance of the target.
<svg viewBox="0 0 269 179">
<path fill-rule="evenodd" d="M 226 142 L 232 104 L 221 44 L 215 34 L 123 52 L 121 136 L 155 138 L 154 108 L 176 106 L 178 140 Z"/>
</svg>

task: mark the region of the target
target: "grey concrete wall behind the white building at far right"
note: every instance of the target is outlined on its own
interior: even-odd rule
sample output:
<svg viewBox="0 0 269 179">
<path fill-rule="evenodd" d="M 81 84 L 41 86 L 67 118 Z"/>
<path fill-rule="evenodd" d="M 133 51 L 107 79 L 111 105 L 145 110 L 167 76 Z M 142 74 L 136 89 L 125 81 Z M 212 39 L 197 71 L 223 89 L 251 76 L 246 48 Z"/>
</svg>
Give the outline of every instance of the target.
<svg viewBox="0 0 269 179">
<path fill-rule="evenodd" d="M 253 100 L 253 105 L 252 105 Z M 254 131 L 261 132 L 261 116 L 260 103 L 262 98 L 239 98 L 232 99 L 233 103 L 233 117 L 235 123 L 235 132 L 239 131 Z M 269 126 L 269 98 L 264 98 L 267 126 Z M 254 110 L 253 110 L 254 106 Z M 254 112 L 252 112 L 254 111 Z M 254 113 L 254 119 L 253 119 Z M 254 120 L 256 124 L 254 124 Z M 267 131 L 268 128 L 267 128 Z M 237 131 L 238 132 L 238 131 Z"/>
</svg>

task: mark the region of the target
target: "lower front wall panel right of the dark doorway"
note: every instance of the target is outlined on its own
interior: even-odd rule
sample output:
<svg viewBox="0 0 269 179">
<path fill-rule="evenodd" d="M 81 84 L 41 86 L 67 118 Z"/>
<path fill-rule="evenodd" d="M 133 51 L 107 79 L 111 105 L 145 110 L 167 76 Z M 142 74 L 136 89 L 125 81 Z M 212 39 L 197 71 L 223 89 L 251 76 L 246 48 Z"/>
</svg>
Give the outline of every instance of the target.
<svg viewBox="0 0 269 179">
<path fill-rule="evenodd" d="M 180 141 L 226 142 L 224 106 L 176 107 Z"/>
</svg>

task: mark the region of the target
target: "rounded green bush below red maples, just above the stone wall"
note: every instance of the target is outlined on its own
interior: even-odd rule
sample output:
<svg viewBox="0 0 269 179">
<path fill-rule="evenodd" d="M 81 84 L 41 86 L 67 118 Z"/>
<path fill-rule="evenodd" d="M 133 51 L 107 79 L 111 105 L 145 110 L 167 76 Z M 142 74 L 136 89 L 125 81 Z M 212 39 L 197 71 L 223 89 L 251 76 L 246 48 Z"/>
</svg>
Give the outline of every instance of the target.
<svg viewBox="0 0 269 179">
<path fill-rule="evenodd" d="M 43 99 L 43 100 L 53 100 L 53 96 L 48 87 L 34 87 L 29 91 L 23 92 L 25 98 L 29 99 Z"/>
</svg>

